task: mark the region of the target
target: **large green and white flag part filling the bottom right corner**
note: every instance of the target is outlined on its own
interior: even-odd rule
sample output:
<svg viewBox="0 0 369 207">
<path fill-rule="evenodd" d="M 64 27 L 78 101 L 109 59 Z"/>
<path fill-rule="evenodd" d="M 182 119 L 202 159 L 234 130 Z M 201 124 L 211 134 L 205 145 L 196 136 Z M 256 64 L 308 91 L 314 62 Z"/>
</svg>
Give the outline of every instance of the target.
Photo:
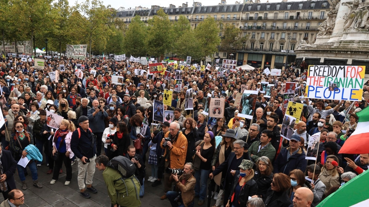
<svg viewBox="0 0 369 207">
<path fill-rule="evenodd" d="M 346 144 L 346 143 L 345 143 Z M 344 145 L 345 145 L 344 144 Z M 317 207 L 365 207 L 369 206 L 369 170 L 364 171 L 330 194 Z"/>
</svg>

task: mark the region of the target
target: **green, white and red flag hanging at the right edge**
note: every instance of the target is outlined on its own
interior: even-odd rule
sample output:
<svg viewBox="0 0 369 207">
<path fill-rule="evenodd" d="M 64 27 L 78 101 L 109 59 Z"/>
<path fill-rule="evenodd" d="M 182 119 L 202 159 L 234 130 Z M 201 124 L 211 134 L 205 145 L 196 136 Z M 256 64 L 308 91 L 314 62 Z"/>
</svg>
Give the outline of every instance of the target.
<svg viewBox="0 0 369 207">
<path fill-rule="evenodd" d="M 364 108 L 356 115 L 359 117 L 356 130 L 346 139 L 338 153 L 366 154 L 369 153 L 369 107 Z"/>
</svg>

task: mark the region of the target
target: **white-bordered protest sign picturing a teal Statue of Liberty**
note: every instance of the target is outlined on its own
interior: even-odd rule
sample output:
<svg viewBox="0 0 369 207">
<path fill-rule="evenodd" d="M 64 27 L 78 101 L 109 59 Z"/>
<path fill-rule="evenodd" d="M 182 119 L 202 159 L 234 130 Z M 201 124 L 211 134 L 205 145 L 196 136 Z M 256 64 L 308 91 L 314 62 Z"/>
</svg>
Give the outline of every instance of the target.
<svg viewBox="0 0 369 207">
<path fill-rule="evenodd" d="M 256 97 L 258 91 L 245 90 L 239 104 L 238 116 L 245 119 L 252 119 L 255 111 Z"/>
</svg>

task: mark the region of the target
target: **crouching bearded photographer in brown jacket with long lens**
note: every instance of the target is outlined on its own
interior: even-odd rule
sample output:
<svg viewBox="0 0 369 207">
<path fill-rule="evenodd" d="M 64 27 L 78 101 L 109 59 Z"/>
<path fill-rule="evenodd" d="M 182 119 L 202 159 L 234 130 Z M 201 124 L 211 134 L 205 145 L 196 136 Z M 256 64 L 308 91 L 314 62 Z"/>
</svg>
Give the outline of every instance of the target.
<svg viewBox="0 0 369 207">
<path fill-rule="evenodd" d="M 183 171 L 179 169 L 175 170 L 166 168 L 165 172 L 172 173 L 169 178 L 170 182 L 173 182 L 173 180 L 176 182 L 176 191 L 168 191 L 166 193 L 172 207 L 178 207 L 178 203 L 180 203 L 181 207 L 193 206 L 195 197 L 194 189 L 196 184 L 196 179 L 193 176 L 195 172 L 193 164 L 191 162 L 187 162 L 184 165 Z"/>
</svg>

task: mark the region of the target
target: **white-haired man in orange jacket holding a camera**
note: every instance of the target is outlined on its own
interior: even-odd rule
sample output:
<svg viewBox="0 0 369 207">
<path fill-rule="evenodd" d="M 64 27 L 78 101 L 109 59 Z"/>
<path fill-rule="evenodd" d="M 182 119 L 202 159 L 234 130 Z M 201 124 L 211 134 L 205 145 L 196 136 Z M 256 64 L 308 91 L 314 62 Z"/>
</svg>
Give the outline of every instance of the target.
<svg viewBox="0 0 369 207">
<path fill-rule="evenodd" d="M 179 131 L 179 123 L 172 122 L 169 131 L 165 134 L 160 143 L 160 147 L 165 150 L 165 168 L 183 169 L 187 153 L 187 138 Z M 164 192 L 172 189 L 172 182 L 169 181 L 170 175 L 164 173 Z M 167 196 L 164 194 L 160 199 L 164 200 Z"/>
</svg>

